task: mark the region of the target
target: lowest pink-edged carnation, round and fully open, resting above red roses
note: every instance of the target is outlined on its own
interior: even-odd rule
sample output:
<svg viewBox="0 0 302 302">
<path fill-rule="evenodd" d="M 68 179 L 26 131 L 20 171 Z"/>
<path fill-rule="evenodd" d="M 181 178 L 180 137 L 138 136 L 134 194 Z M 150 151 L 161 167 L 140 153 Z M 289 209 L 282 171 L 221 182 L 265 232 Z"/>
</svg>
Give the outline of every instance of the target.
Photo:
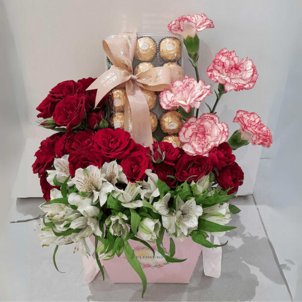
<svg viewBox="0 0 302 302">
<path fill-rule="evenodd" d="M 228 136 L 228 125 L 219 124 L 219 117 L 213 113 L 203 113 L 198 119 L 190 117 L 178 133 L 179 140 L 184 143 L 182 148 L 188 155 L 205 155 Z"/>
</svg>

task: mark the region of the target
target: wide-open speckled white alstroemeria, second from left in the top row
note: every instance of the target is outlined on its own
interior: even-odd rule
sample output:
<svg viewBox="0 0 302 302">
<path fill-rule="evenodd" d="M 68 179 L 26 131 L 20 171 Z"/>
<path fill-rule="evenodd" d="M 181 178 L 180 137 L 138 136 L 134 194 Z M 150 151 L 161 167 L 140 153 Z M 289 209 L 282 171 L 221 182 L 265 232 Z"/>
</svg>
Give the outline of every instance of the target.
<svg viewBox="0 0 302 302">
<path fill-rule="evenodd" d="M 101 206 L 107 201 L 108 193 L 114 190 L 114 186 L 102 178 L 100 169 L 93 165 L 75 170 L 72 181 L 80 192 L 93 192 L 93 202 L 99 198 Z"/>
</svg>

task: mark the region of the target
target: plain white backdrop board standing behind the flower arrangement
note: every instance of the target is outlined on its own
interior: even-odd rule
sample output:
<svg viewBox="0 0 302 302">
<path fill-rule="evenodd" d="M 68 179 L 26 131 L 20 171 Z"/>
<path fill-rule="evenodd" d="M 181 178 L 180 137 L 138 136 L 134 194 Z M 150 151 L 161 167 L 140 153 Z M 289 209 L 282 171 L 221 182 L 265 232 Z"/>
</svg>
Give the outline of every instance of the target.
<svg viewBox="0 0 302 302">
<path fill-rule="evenodd" d="M 276 20 L 286 9 L 285 2 L 8 0 L 4 1 L 4 9 L 9 39 L 15 44 L 9 56 L 19 62 L 16 73 L 20 79 L 13 81 L 14 90 L 23 92 L 22 97 L 20 94 L 15 97 L 26 141 L 14 189 L 16 197 L 41 196 L 31 164 L 39 141 L 51 132 L 37 127 L 35 107 L 61 81 L 100 75 L 105 70 L 102 40 L 114 33 L 133 29 L 163 32 L 171 20 L 182 14 L 205 13 L 215 28 L 199 34 L 200 78 L 206 84 L 213 84 L 205 70 L 223 47 L 236 50 L 239 57 L 252 58 L 259 73 L 252 90 L 231 92 L 222 97 L 217 107 L 221 121 L 229 124 L 231 134 L 238 128 L 232 123 L 238 109 L 255 111 L 267 122 L 273 101 L 271 92 L 280 84 L 275 82 L 276 74 L 271 70 L 279 61 L 277 55 L 282 55 L 275 51 L 276 46 L 282 46 L 281 41 L 273 38 L 277 35 Z M 194 76 L 188 61 L 185 71 Z M 212 105 L 214 97 L 206 101 Z M 201 111 L 207 112 L 206 107 Z M 237 161 L 245 173 L 240 195 L 253 192 L 260 154 L 260 146 L 236 151 Z"/>
</svg>

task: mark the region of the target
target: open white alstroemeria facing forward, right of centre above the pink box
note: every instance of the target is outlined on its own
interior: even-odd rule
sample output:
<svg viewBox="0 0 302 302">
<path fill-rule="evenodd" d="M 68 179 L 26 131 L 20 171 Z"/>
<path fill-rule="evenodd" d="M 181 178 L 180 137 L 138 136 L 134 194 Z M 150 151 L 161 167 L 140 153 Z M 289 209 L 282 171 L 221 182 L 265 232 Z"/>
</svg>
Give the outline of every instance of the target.
<svg viewBox="0 0 302 302">
<path fill-rule="evenodd" d="M 196 205 L 194 198 L 184 202 L 177 196 L 176 211 L 170 209 L 168 215 L 162 216 L 162 220 L 164 227 L 170 234 L 177 232 L 177 236 L 181 234 L 187 236 L 197 229 L 200 215 L 202 215 L 202 207 Z"/>
</svg>

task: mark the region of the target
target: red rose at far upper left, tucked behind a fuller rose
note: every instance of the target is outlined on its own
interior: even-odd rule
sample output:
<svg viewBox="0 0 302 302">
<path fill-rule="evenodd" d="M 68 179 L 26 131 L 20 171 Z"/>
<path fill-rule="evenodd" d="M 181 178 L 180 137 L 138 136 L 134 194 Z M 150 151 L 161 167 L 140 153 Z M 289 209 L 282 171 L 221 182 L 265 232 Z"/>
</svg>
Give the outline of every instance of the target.
<svg viewBox="0 0 302 302">
<path fill-rule="evenodd" d="M 36 108 L 38 111 L 40 111 L 37 117 L 51 117 L 58 102 L 69 95 L 76 94 L 81 88 L 81 83 L 76 83 L 72 80 L 59 83 L 51 89 L 48 96 Z"/>
</svg>

